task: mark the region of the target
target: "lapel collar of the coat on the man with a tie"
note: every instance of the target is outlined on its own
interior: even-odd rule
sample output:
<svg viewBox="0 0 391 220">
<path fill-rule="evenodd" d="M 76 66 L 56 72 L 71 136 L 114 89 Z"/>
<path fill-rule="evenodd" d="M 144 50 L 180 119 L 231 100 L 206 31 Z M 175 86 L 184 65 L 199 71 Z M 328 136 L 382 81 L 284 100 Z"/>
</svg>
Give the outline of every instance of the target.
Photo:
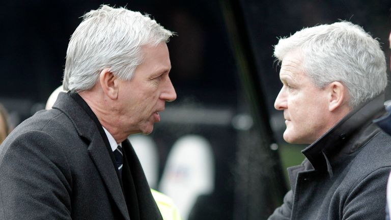
<svg viewBox="0 0 391 220">
<path fill-rule="evenodd" d="M 97 125 L 99 121 L 93 114 L 91 108 L 86 102 L 79 99 L 81 97 L 77 94 L 71 94 L 69 92 L 60 93 L 53 108 L 64 112 L 74 124 L 78 134 L 87 142 L 89 145 L 87 149 L 88 153 L 95 163 L 111 197 L 113 197 L 124 219 L 130 219 L 121 183 L 118 175 L 116 175 L 116 169 L 111 158 L 113 156 L 109 153 L 107 147 L 107 137 L 101 134 L 99 129 L 103 131 L 103 128 Z"/>
</svg>

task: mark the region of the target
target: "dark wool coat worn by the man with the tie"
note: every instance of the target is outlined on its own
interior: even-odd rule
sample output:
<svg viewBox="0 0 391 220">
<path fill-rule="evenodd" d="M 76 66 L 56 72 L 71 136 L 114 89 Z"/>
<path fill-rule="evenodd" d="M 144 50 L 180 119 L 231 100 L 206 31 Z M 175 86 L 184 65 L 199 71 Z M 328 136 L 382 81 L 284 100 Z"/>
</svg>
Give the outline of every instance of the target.
<svg viewBox="0 0 391 220">
<path fill-rule="evenodd" d="M 0 147 L 0 219 L 160 220 L 137 156 L 122 145 L 123 187 L 96 116 L 77 94 L 60 93 Z"/>
</svg>

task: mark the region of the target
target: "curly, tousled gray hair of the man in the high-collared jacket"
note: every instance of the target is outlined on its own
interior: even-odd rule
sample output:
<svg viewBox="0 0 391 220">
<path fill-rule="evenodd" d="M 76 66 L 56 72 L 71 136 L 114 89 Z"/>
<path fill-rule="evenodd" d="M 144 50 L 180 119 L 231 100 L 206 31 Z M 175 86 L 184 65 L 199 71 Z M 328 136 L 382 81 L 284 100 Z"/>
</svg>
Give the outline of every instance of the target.
<svg viewBox="0 0 391 220">
<path fill-rule="evenodd" d="M 387 86 L 385 56 L 379 42 L 360 26 L 348 21 L 304 28 L 274 46 L 282 61 L 298 50 L 302 68 L 318 88 L 340 81 L 349 91 L 349 106 L 355 107 Z"/>
</svg>

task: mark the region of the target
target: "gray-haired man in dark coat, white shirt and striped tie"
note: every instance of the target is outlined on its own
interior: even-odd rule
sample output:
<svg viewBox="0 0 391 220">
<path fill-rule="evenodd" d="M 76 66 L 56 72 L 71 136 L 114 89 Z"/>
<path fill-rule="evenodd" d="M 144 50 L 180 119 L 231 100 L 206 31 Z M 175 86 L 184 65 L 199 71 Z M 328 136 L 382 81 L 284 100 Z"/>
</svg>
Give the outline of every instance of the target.
<svg viewBox="0 0 391 220">
<path fill-rule="evenodd" d="M 162 219 L 127 137 L 151 133 L 176 99 L 172 35 L 124 8 L 83 17 L 67 50 L 69 92 L 0 148 L 1 219 Z"/>
</svg>

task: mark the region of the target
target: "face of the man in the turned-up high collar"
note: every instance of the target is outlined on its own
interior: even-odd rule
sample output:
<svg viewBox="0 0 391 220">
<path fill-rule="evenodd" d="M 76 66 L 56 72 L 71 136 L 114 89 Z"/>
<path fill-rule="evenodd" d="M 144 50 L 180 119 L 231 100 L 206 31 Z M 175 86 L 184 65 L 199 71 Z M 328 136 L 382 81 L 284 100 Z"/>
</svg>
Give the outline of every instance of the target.
<svg viewBox="0 0 391 220">
<path fill-rule="evenodd" d="M 283 60 L 280 79 L 283 87 L 274 102 L 284 111 L 284 140 L 295 144 L 312 144 L 329 129 L 326 90 L 317 88 L 301 68 L 298 51 Z"/>
</svg>

